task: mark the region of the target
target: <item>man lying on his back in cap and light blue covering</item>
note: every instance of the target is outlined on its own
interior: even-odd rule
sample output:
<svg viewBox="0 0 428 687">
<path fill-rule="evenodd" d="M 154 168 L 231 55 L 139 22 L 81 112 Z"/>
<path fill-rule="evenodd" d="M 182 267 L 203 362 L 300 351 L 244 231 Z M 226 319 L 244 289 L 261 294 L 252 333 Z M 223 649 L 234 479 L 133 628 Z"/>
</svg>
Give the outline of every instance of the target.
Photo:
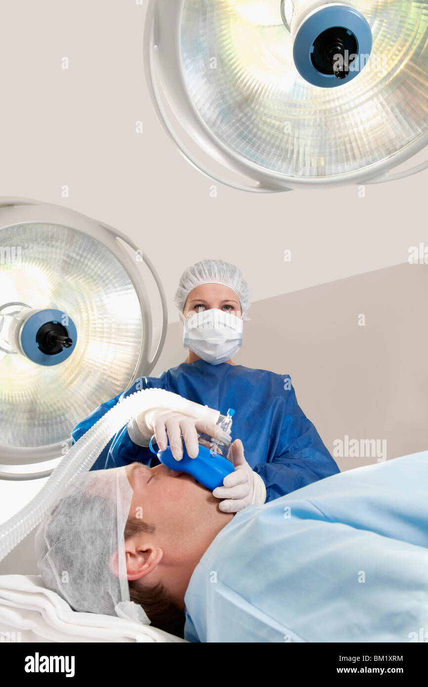
<svg viewBox="0 0 428 687">
<path fill-rule="evenodd" d="M 234 451 L 243 451 L 238 440 Z M 117 601 L 129 593 L 141 618 L 194 642 L 409 642 L 428 627 L 428 452 L 326 477 L 236 515 L 163 465 L 89 479 L 85 507 L 63 497 L 36 539 L 45 584 L 76 610 L 121 614 Z M 116 500 L 99 488 L 115 480 L 131 485 L 128 501 L 123 490 Z"/>
</svg>

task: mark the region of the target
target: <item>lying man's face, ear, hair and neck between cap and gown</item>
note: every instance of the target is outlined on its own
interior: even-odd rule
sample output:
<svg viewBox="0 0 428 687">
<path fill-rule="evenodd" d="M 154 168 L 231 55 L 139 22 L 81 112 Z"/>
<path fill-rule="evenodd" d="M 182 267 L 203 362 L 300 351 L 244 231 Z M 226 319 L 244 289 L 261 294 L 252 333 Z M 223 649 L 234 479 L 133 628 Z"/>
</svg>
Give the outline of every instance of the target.
<svg viewBox="0 0 428 687">
<path fill-rule="evenodd" d="M 203 554 L 234 515 L 188 473 L 132 463 L 124 469 L 133 499 L 124 530 L 131 600 L 150 621 L 183 636 L 184 596 Z M 142 508 L 144 520 L 135 517 Z"/>
</svg>

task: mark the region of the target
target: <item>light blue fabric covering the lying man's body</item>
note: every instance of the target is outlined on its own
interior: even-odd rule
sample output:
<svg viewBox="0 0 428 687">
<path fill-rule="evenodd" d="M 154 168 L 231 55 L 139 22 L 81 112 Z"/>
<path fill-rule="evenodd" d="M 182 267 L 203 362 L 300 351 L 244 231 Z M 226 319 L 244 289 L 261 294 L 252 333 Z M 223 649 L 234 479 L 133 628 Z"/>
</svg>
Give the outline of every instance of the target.
<svg viewBox="0 0 428 687">
<path fill-rule="evenodd" d="M 185 639 L 426 641 L 427 484 L 425 451 L 240 511 L 190 578 Z"/>
</svg>

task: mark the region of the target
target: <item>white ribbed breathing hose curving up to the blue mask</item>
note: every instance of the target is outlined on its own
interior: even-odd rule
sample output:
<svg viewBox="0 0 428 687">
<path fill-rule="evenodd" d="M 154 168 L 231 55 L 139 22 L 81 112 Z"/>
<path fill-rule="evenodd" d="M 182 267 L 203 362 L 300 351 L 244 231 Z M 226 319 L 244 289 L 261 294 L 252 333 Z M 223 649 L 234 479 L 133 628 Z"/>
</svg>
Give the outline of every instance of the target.
<svg viewBox="0 0 428 687">
<path fill-rule="evenodd" d="M 164 389 L 143 389 L 130 394 L 98 420 L 71 447 L 46 484 L 26 506 L 0 526 L 0 561 L 43 519 L 52 504 L 80 473 L 93 466 L 102 449 L 131 418 L 152 407 L 181 411 L 216 423 L 220 413 Z"/>
</svg>

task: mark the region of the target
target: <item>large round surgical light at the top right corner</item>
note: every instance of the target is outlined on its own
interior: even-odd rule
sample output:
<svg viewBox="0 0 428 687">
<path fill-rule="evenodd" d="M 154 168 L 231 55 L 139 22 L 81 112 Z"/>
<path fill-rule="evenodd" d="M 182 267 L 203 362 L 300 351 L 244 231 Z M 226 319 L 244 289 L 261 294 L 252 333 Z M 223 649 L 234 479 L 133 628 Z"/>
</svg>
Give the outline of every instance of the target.
<svg viewBox="0 0 428 687">
<path fill-rule="evenodd" d="M 258 192 L 379 183 L 428 144 L 428 3 L 150 0 L 150 95 L 208 177 Z M 243 181 L 244 178 L 244 181 Z"/>
</svg>

